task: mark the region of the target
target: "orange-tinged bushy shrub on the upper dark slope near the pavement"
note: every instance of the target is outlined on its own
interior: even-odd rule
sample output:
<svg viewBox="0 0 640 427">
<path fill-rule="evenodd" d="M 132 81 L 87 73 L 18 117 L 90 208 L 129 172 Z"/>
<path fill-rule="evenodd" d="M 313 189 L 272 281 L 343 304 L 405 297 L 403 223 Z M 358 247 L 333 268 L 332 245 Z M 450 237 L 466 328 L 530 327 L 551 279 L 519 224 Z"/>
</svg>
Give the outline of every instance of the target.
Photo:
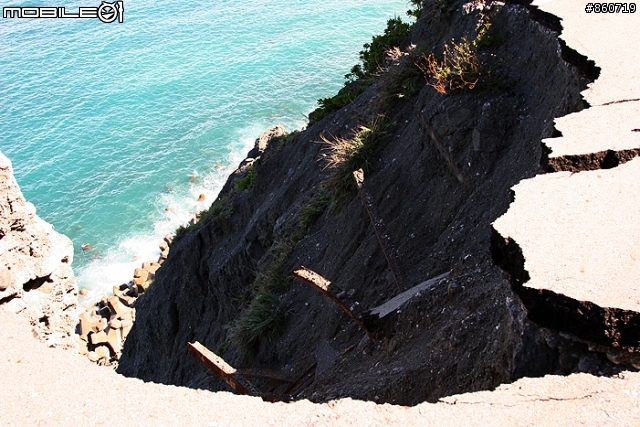
<svg viewBox="0 0 640 427">
<path fill-rule="evenodd" d="M 466 39 L 444 44 L 442 55 L 422 54 L 416 66 L 424 74 L 427 84 L 440 93 L 471 90 L 484 77 L 486 69 L 473 45 Z"/>
</svg>

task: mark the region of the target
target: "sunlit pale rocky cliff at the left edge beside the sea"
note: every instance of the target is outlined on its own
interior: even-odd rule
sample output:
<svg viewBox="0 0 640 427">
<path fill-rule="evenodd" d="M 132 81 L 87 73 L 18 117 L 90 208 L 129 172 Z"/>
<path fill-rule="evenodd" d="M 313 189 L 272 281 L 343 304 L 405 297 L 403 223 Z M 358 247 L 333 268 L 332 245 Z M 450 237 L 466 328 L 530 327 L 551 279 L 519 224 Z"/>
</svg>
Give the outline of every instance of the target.
<svg viewBox="0 0 640 427">
<path fill-rule="evenodd" d="M 23 312 L 48 345 L 75 347 L 73 245 L 36 215 L 0 153 L 0 305 Z"/>
</svg>

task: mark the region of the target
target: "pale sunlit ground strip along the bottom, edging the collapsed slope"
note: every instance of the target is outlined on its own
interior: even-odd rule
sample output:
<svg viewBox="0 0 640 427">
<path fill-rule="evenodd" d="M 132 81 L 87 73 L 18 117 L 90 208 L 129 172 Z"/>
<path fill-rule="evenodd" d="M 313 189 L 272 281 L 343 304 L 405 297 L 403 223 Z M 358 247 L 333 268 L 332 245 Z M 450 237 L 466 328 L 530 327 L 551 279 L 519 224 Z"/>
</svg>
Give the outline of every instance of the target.
<svg viewBox="0 0 640 427">
<path fill-rule="evenodd" d="M 523 379 L 409 408 L 341 399 L 265 403 L 231 393 L 145 384 L 47 348 L 0 308 L 2 426 L 640 425 L 640 374 Z"/>
</svg>

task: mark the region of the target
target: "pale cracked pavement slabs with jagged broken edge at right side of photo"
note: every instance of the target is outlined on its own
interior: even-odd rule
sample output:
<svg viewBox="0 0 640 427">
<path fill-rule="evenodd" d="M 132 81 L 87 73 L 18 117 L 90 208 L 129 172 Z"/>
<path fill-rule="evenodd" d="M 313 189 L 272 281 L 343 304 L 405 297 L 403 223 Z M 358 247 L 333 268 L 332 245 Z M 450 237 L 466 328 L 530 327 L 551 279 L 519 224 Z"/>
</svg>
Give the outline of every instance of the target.
<svg viewBox="0 0 640 427">
<path fill-rule="evenodd" d="M 516 185 L 494 222 L 502 265 L 535 322 L 613 347 L 640 347 L 640 47 L 636 14 L 588 14 L 587 1 L 540 8 L 595 60 L 592 107 L 555 120 L 549 170 Z M 624 163 L 624 164 L 622 164 Z M 600 168 L 606 168 L 600 169 Z M 495 250 L 495 248 L 494 248 Z M 518 255 L 518 252 L 521 255 Z M 501 258 L 501 255 L 497 255 Z M 522 258 L 522 259 L 520 259 Z M 523 264 L 523 265 L 521 265 Z"/>
</svg>

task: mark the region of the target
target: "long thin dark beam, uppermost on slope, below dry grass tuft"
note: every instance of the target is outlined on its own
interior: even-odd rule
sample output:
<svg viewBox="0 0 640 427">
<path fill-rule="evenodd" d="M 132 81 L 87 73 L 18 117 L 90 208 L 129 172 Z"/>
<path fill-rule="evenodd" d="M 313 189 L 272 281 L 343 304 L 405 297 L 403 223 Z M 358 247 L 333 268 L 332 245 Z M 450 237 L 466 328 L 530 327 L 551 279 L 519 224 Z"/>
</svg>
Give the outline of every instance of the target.
<svg viewBox="0 0 640 427">
<path fill-rule="evenodd" d="M 387 226 L 384 224 L 382 217 L 378 213 L 378 210 L 373 203 L 373 197 L 371 197 L 371 194 L 369 194 L 369 192 L 364 188 L 364 171 L 362 169 L 353 171 L 353 178 L 356 180 L 358 194 L 360 195 L 360 199 L 364 204 L 367 214 L 369 214 L 371 225 L 373 226 L 373 230 L 375 231 L 376 237 L 378 238 L 378 243 L 380 244 L 382 253 L 387 260 L 389 269 L 391 270 L 393 281 L 398 288 L 398 292 L 400 292 L 402 290 L 402 288 L 400 287 L 400 282 L 404 284 L 406 282 L 406 279 L 404 271 L 399 267 L 398 251 L 391 241 L 391 237 L 389 236 L 389 232 L 387 231 Z"/>
</svg>

